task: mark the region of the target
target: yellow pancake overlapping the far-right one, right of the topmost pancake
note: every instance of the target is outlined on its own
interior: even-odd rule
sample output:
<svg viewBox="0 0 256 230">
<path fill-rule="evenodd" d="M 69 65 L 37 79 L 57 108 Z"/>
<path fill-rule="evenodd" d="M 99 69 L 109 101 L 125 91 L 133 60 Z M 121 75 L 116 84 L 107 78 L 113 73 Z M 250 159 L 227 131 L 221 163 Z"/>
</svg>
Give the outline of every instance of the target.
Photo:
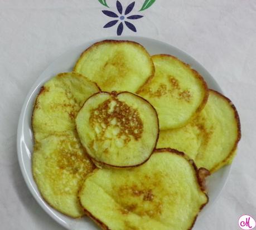
<svg viewBox="0 0 256 230">
<path fill-rule="evenodd" d="M 160 129 L 180 128 L 204 108 L 208 88 L 194 69 L 167 54 L 152 56 L 154 77 L 138 93 L 156 108 Z"/>
</svg>

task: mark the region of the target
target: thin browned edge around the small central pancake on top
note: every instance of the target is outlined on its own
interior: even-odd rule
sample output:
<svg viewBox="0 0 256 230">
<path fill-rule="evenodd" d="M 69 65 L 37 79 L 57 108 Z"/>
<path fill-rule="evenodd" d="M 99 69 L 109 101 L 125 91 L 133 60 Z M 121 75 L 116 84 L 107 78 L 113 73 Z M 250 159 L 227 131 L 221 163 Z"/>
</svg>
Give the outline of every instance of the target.
<svg viewBox="0 0 256 230">
<path fill-rule="evenodd" d="M 97 161 L 95 158 L 91 157 L 90 154 L 88 153 L 89 151 L 87 151 L 86 147 L 84 146 L 84 148 L 86 149 L 86 152 L 88 153 L 88 156 L 90 157 L 90 159 L 92 159 L 93 161 L 99 163 L 99 164 L 102 164 L 102 166 L 107 166 L 107 167 L 112 167 L 112 168 L 133 168 L 133 167 L 137 167 L 137 166 L 141 166 L 142 164 L 146 163 L 148 161 L 148 159 L 151 157 L 151 155 L 153 154 L 154 150 L 156 149 L 156 146 L 157 146 L 157 142 L 158 142 L 158 138 L 159 138 L 159 133 L 160 133 L 160 128 L 159 128 L 159 119 L 158 119 L 158 115 L 157 115 L 157 112 L 156 112 L 156 109 L 152 106 L 151 103 L 149 103 L 146 99 L 144 99 L 143 97 L 137 95 L 137 94 L 134 94 L 134 93 L 131 93 L 131 92 L 128 92 L 128 91 L 123 91 L 123 92 L 116 92 L 116 91 L 112 91 L 112 92 L 104 92 L 104 91 L 101 91 L 101 92 L 97 92 L 97 93 L 94 93 L 93 95 L 91 95 L 83 104 L 83 106 L 81 108 L 84 107 L 85 103 L 91 98 L 91 97 L 94 97 L 96 96 L 97 94 L 109 94 L 110 96 L 112 97 L 117 97 L 119 94 L 122 94 L 122 93 L 128 93 L 128 94 L 132 94 L 133 96 L 135 97 L 138 97 L 140 99 L 142 99 L 143 101 L 147 102 L 149 104 L 149 106 L 151 106 L 151 108 L 153 109 L 153 111 L 156 113 L 156 117 L 157 117 L 157 127 L 158 127 L 158 132 L 157 132 L 157 138 L 156 138 L 156 142 L 154 144 L 154 147 L 152 149 L 152 152 L 151 154 L 149 154 L 148 158 L 145 159 L 142 163 L 139 163 L 139 164 L 135 164 L 133 166 L 115 166 L 113 164 L 108 164 L 108 163 L 104 163 L 104 162 L 101 162 L 101 161 Z M 81 110 L 80 108 L 80 110 Z M 83 145 L 83 143 L 82 143 Z"/>
</svg>

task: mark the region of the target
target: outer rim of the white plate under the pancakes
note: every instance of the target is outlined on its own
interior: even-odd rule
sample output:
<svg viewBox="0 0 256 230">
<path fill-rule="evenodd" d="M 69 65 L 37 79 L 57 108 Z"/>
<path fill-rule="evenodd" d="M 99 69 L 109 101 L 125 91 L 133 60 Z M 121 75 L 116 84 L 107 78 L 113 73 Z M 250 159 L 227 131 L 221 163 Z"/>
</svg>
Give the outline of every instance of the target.
<svg viewBox="0 0 256 230">
<path fill-rule="evenodd" d="M 64 53 L 62 53 L 60 56 L 58 56 L 57 58 L 55 58 L 52 62 L 49 63 L 49 65 L 45 68 L 45 70 L 40 74 L 40 76 L 38 76 L 35 79 L 35 82 L 32 84 L 31 88 L 29 89 L 23 104 L 22 104 L 22 108 L 21 108 L 21 112 L 20 112 L 20 116 L 18 118 L 18 127 L 17 127 L 17 140 L 16 140 L 16 148 L 17 148 L 17 155 L 18 155 L 18 163 L 22 172 L 22 176 L 26 182 L 26 185 L 30 191 L 30 193 L 32 194 L 32 196 L 36 199 L 37 203 L 40 205 L 40 207 L 42 209 L 44 209 L 44 211 L 52 218 L 54 219 L 57 223 L 59 223 L 62 227 L 69 229 L 69 230 L 73 230 L 70 228 L 69 224 L 67 224 L 65 221 L 63 221 L 62 219 L 60 219 L 59 217 L 56 216 L 56 214 L 54 212 L 51 211 L 50 209 L 50 204 L 47 203 L 47 206 L 44 205 L 44 199 L 41 197 L 41 194 L 37 193 L 37 191 L 35 190 L 35 188 L 33 188 L 33 185 L 31 183 L 30 177 L 27 174 L 27 167 L 25 166 L 24 163 L 24 158 L 23 158 L 23 151 L 22 151 L 22 147 L 21 147 L 21 142 L 24 141 L 24 137 L 23 137 L 23 129 L 24 129 L 24 119 L 25 117 L 25 112 L 27 110 L 28 107 L 28 102 L 31 100 L 31 97 L 33 96 L 33 94 L 35 93 L 35 91 L 37 90 L 38 86 L 43 82 L 43 76 L 44 74 L 52 67 L 54 66 L 54 64 L 57 63 L 57 61 L 63 57 L 66 56 L 68 53 L 71 53 L 72 51 L 74 51 L 75 49 L 79 48 L 79 47 L 89 47 L 90 44 L 93 44 L 95 42 L 99 42 L 99 41 L 103 41 L 105 39 L 116 39 L 116 40 L 125 40 L 125 41 L 136 41 L 136 40 L 147 40 L 149 42 L 153 42 L 153 43 L 158 43 L 158 44 L 164 44 L 165 46 L 169 46 L 172 49 L 174 49 L 176 52 L 181 53 L 182 56 L 188 57 L 190 58 L 193 62 L 195 62 L 197 64 L 197 66 L 199 66 L 205 73 L 207 73 L 210 77 L 211 77 L 211 81 L 215 84 L 215 87 L 218 88 L 218 91 L 220 93 L 223 94 L 222 89 L 220 88 L 219 84 L 216 82 L 215 78 L 210 74 L 210 72 L 207 71 L 207 69 L 202 66 L 202 64 L 200 62 L 198 62 L 194 57 L 192 57 L 190 54 L 186 53 L 185 51 L 183 51 L 180 48 L 177 48 L 175 46 L 173 46 L 172 44 L 169 44 L 167 42 L 161 41 L 160 39 L 153 39 L 153 38 L 149 38 L 149 37 L 143 37 L 143 36 L 122 36 L 122 37 L 118 37 L 118 36 L 111 36 L 111 37 L 101 37 L 101 38 L 96 38 L 90 41 L 86 41 L 84 43 L 79 44 L 78 46 L 74 46 L 70 49 L 68 49 L 67 51 L 65 51 Z M 143 44 L 142 44 L 143 45 Z M 82 51 L 81 51 L 82 52 Z M 168 52 L 167 52 L 168 53 Z M 193 68 L 193 67 L 192 67 Z M 201 75 L 201 73 L 200 73 Z M 49 77 L 50 79 L 51 77 Z M 45 79 L 46 80 L 46 79 Z M 46 80 L 47 81 L 47 80 Z M 35 101 L 35 98 L 33 98 L 33 102 Z M 32 140 L 33 141 L 33 140 Z M 226 166 L 226 177 L 225 177 L 225 181 L 223 183 L 223 187 L 220 189 L 218 195 L 215 197 L 214 201 L 212 201 L 213 203 L 211 204 L 211 206 L 209 206 L 207 208 L 206 212 L 209 212 L 210 208 L 212 208 L 214 206 L 214 203 L 216 203 L 216 201 L 219 199 L 220 194 L 223 192 L 224 187 L 226 186 L 226 183 L 228 181 L 229 175 L 230 175 L 230 171 L 231 171 L 231 165 Z M 32 169 L 30 169 L 32 171 Z M 33 175 L 32 175 L 33 176 Z M 33 178 L 32 178 L 33 179 Z M 33 179 L 34 180 L 34 179 Z M 205 212 L 203 214 L 200 214 L 201 216 L 204 216 Z"/>
</svg>

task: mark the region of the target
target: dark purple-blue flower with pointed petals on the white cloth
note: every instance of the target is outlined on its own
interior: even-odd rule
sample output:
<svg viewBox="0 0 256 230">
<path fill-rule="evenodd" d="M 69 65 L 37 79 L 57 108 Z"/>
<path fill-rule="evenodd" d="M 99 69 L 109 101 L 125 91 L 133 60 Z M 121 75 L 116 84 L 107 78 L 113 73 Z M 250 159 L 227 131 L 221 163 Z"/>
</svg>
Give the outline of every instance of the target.
<svg viewBox="0 0 256 230">
<path fill-rule="evenodd" d="M 142 15 L 138 15 L 138 14 L 131 15 L 131 16 L 127 17 L 127 14 L 131 13 L 131 11 L 133 10 L 134 5 L 135 5 L 135 2 L 132 2 L 131 4 L 129 4 L 126 7 L 125 11 L 123 12 L 122 4 L 119 1 L 117 1 L 117 11 L 118 11 L 119 15 L 113 11 L 102 11 L 108 17 L 115 18 L 115 20 L 110 21 L 107 24 L 105 24 L 104 28 L 112 27 L 119 22 L 118 27 L 117 27 L 117 35 L 118 36 L 120 36 L 122 34 L 123 29 L 124 29 L 124 24 L 129 29 L 131 29 L 131 31 L 137 32 L 136 27 L 131 22 L 127 21 L 127 19 L 134 20 L 134 19 L 139 19 L 139 18 L 143 17 Z"/>
</svg>

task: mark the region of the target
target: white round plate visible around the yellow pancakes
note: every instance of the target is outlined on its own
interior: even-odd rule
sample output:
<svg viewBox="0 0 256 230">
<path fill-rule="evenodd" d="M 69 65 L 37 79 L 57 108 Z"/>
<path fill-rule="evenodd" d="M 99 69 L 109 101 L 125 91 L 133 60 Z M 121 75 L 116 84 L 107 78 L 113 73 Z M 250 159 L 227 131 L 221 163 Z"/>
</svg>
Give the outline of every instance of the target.
<svg viewBox="0 0 256 230">
<path fill-rule="evenodd" d="M 206 71 L 204 67 L 201 66 L 194 58 L 181 51 L 178 48 L 171 46 L 170 44 L 163 43 L 154 39 L 143 38 L 143 37 L 111 37 L 108 39 L 124 39 L 131 40 L 138 43 L 141 43 L 150 54 L 157 53 L 166 53 L 172 54 L 180 58 L 182 61 L 189 63 L 192 68 L 196 69 L 205 79 L 209 88 L 215 89 L 216 91 L 222 92 L 218 84 L 215 82 L 214 78 L 209 72 Z M 102 40 L 102 39 L 100 39 Z M 99 40 L 97 40 L 99 41 Z M 62 56 L 57 58 L 54 62 L 50 64 L 48 68 L 41 74 L 41 76 L 33 84 L 30 92 L 28 92 L 25 102 L 22 107 L 20 120 L 18 122 L 18 132 L 17 132 L 17 152 L 18 152 L 18 161 L 20 162 L 21 171 L 28 188 L 30 189 L 33 197 L 40 204 L 40 206 L 52 217 L 70 230 L 93 230 L 99 229 L 95 226 L 90 219 L 84 217 L 81 219 L 72 219 L 69 218 L 51 208 L 45 201 L 42 199 L 40 193 L 38 192 L 35 181 L 32 177 L 31 172 L 31 154 L 33 152 L 33 139 L 32 139 L 32 129 L 31 129 L 31 114 L 33 108 L 33 102 L 37 93 L 40 90 L 40 87 L 48 81 L 50 78 L 54 77 L 57 73 L 60 72 L 69 72 L 73 69 L 73 66 L 80 56 L 81 52 L 84 49 L 88 48 L 91 44 L 97 41 L 86 42 L 85 44 L 74 48 L 73 50 L 64 53 Z M 209 189 L 209 203 L 202 210 L 197 218 L 197 221 L 194 226 L 195 229 L 199 229 L 199 222 L 203 221 L 203 214 L 209 212 L 209 208 L 212 206 L 216 198 L 219 196 L 221 190 L 225 186 L 226 179 L 228 178 L 230 172 L 230 166 L 226 166 L 220 169 L 218 172 L 214 173 L 208 179 L 208 189 Z"/>
</svg>

